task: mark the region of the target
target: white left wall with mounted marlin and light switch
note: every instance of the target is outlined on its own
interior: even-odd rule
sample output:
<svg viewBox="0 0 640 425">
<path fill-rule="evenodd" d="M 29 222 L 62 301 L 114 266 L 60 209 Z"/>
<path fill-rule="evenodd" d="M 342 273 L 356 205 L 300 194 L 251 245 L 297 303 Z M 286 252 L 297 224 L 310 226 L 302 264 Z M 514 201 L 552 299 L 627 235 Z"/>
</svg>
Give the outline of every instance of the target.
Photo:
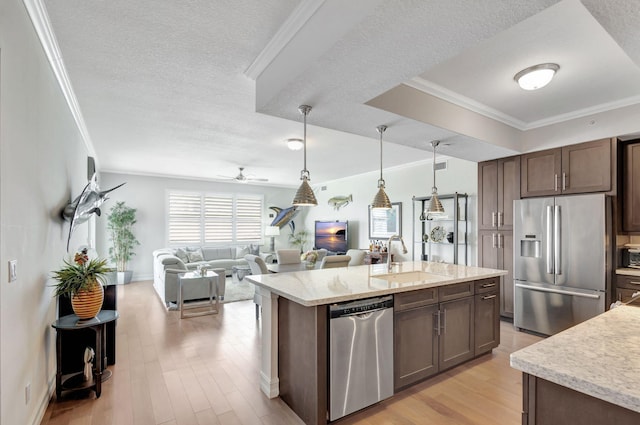
<svg viewBox="0 0 640 425">
<path fill-rule="evenodd" d="M 0 423 L 38 424 L 55 382 L 48 285 L 66 255 L 60 212 L 87 182 L 87 149 L 19 0 L 0 5 L 0 141 Z M 87 229 L 71 246 L 86 243 Z"/>
</svg>

